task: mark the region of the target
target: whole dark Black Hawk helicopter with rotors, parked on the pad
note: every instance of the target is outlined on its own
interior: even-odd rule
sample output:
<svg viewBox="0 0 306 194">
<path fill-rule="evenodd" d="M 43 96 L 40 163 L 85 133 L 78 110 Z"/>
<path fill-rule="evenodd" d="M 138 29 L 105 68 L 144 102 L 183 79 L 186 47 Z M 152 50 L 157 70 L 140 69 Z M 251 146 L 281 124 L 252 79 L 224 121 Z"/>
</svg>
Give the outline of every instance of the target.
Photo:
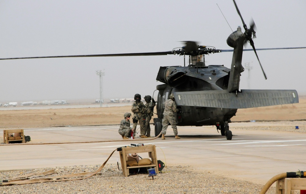
<svg viewBox="0 0 306 194">
<path fill-rule="evenodd" d="M 93 54 L 93 55 L 65 55 L 45 57 L 0 58 L 27 59 L 27 58 L 67 58 L 67 57 L 118 57 L 118 56 L 154 56 L 177 54 L 184 56 L 184 66 L 160 67 L 156 80 L 164 84 L 157 85 L 157 115 L 154 118 L 155 136 L 162 129 L 164 103 L 171 93 L 174 94 L 177 108 L 181 111 L 176 114 L 178 126 L 215 125 L 227 140 L 232 139 L 229 130 L 231 118 L 237 109 L 281 104 L 298 103 L 296 90 L 239 90 L 240 76 L 244 71 L 241 65 L 242 52 L 253 50 L 259 61 L 253 38 L 256 38 L 255 24 L 250 28 L 244 23 L 240 11 L 233 0 L 236 10 L 241 18 L 244 32 L 240 26 L 237 31 L 230 34 L 227 44 L 233 50 L 219 50 L 214 47 L 198 46 L 196 42 L 186 41 L 185 46 L 165 52 L 123 53 L 123 54 Z M 243 49 L 249 42 L 252 49 Z M 257 50 L 297 49 L 306 47 L 267 48 Z M 231 68 L 224 65 L 205 65 L 204 55 L 233 52 Z M 189 56 L 189 64 L 185 65 L 185 56 Z M 202 61 L 203 59 L 203 61 Z M 259 65 L 263 71 L 262 65 Z M 264 71 L 264 77 L 267 79 Z"/>
</svg>

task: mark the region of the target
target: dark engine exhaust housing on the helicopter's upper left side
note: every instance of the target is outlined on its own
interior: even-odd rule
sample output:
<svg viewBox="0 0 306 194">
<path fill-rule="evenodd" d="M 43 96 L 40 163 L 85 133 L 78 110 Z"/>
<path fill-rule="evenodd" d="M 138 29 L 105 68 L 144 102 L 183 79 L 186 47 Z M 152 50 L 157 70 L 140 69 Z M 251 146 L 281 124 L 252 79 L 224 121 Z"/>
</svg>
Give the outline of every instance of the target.
<svg viewBox="0 0 306 194">
<path fill-rule="evenodd" d="M 186 81 L 186 73 L 184 70 L 178 70 L 175 66 L 160 67 L 156 80 L 175 87 Z"/>
</svg>

